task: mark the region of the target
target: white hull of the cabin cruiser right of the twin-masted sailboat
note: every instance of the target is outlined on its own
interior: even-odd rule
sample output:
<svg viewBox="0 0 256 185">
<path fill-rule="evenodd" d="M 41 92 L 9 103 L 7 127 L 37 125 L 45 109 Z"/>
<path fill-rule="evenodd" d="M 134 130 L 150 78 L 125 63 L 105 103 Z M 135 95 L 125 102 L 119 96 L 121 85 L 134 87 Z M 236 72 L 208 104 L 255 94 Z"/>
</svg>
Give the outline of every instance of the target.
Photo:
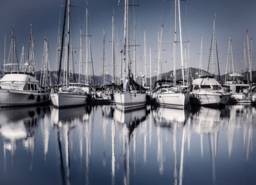
<svg viewBox="0 0 256 185">
<path fill-rule="evenodd" d="M 222 95 L 220 93 L 192 93 L 191 103 L 198 106 L 220 106 L 225 105 L 229 95 Z"/>
</svg>

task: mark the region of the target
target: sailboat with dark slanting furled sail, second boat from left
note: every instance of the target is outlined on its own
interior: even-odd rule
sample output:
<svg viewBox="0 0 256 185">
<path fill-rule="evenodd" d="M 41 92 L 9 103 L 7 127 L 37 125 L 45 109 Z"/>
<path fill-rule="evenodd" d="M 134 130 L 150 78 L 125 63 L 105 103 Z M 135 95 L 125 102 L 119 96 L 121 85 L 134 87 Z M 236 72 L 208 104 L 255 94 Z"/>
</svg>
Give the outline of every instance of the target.
<svg viewBox="0 0 256 185">
<path fill-rule="evenodd" d="M 65 15 L 63 22 L 63 36 L 65 32 L 65 20 L 66 20 L 66 12 L 67 12 L 67 52 L 66 52 L 66 69 L 67 72 L 64 72 L 66 82 L 64 86 L 59 86 L 58 89 L 52 89 L 50 93 L 50 98 L 52 99 L 53 106 L 57 108 L 70 107 L 70 106 L 83 106 L 87 101 L 87 93 L 80 86 L 70 86 L 69 84 L 69 57 L 70 57 L 70 0 L 66 0 L 65 6 Z M 59 68 L 59 76 L 57 85 L 60 82 L 60 72 L 61 72 L 61 60 L 63 53 L 63 39 L 62 39 L 62 48 L 60 51 L 60 68 Z"/>
</svg>

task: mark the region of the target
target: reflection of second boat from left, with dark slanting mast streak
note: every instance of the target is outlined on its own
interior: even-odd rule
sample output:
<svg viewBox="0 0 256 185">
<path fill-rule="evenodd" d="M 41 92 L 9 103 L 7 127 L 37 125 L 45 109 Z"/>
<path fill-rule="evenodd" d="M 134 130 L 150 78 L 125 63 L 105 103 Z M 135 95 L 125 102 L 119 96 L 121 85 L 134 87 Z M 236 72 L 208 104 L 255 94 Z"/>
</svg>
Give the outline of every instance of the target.
<svg viewBox="0 0 256 185">
<path fill-rule="evenodd" d="M 88 111 L 89 110 L 89 111 Z M 89 157 L 90 157 L 90 145 L 91 145 L 91 122 L 90 122 L 90 109 L 88 107 L 80 106 L 70 109 L 56 109 L 52 107 L 51 109 L 51 121 L 57 128 L 57 141 L 59 145 L 60 153 L 60 171 L 63 184 L 70 184 L 70 150 L 73 149 L 73 130 L 75 126 L 80 126 L 83 128 L 85 124 L 85 140 L 86 140 L 86 183 L 89 183 Z M 63 143 L 61 130 L 63 130 Z M 80 129 L 82 130 L 82 129 Z M 83 130 L 79 133 L 80 142 L 80 160 L 83 158 Z M 63 147 L 64 145 L 64 147 Z M 64 152 L 63 152 L 64 150 Z M 63 153 L 65 154 L 63 157 Z M 64 166 L 64 161 L 66 166 Z M 66 168 L 66 170 L 65 170 Z"/>
</svg>

